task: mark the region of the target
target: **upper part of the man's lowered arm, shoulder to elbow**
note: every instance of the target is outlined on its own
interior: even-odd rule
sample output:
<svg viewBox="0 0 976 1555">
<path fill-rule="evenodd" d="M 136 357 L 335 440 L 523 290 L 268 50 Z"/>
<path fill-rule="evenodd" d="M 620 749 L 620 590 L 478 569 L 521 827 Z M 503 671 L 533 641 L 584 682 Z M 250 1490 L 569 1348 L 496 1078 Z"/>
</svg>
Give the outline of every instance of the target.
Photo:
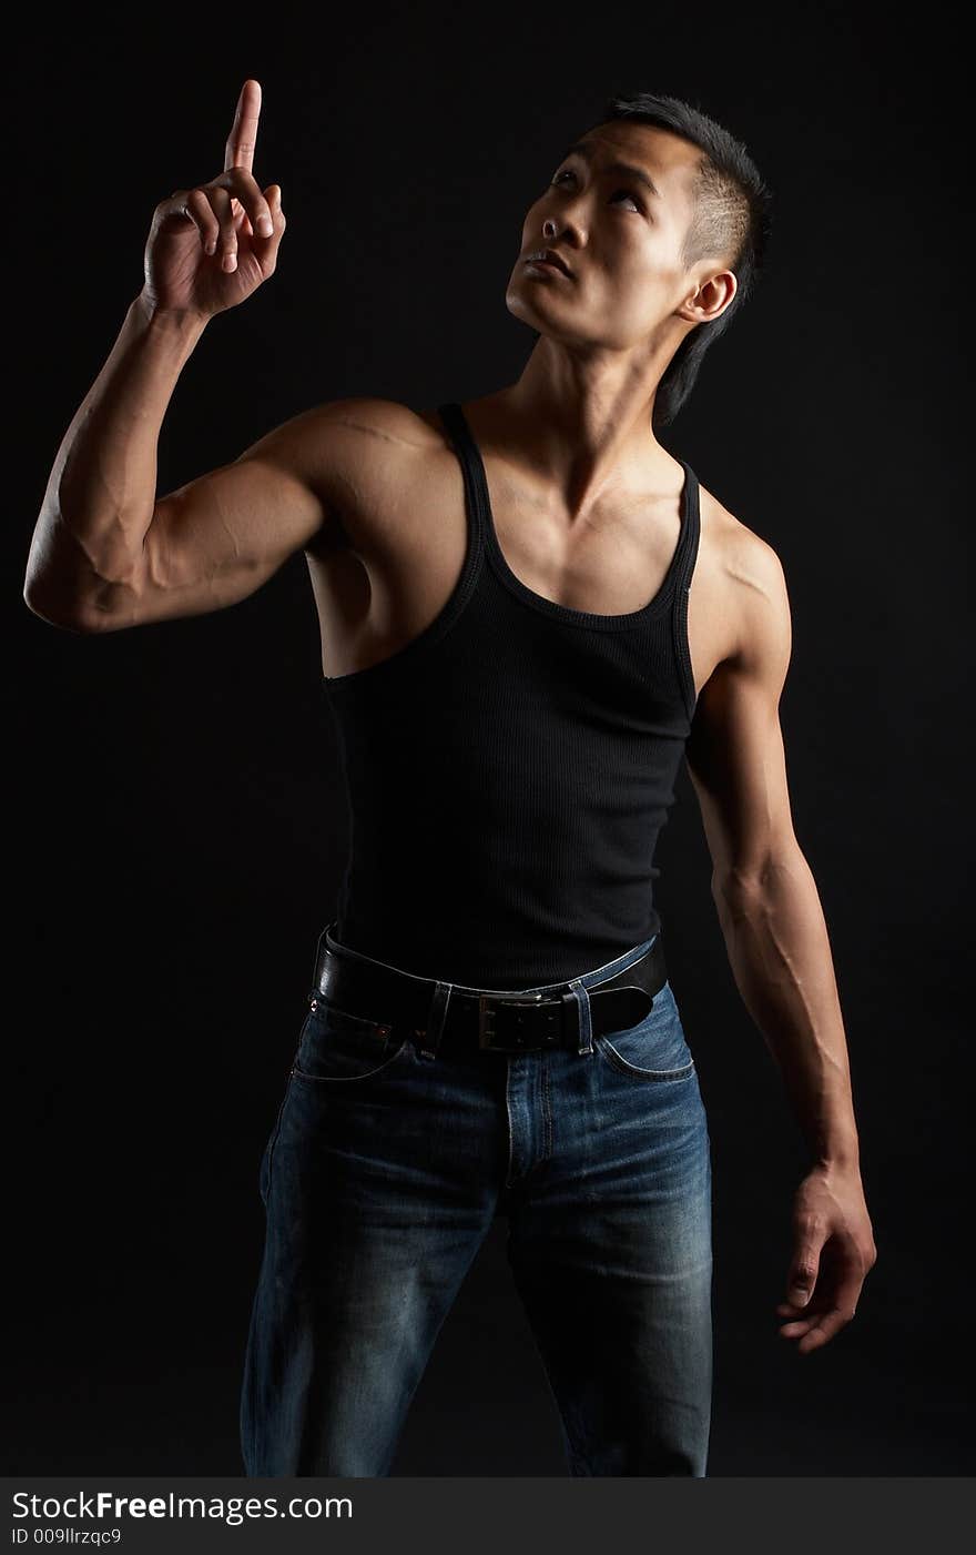
<svg viewBox="0 0 976 1555">
<path fill-rule="evenodd" d="M 779 718 L 790 600 L 769 546 L 754 547 L 749 561 L 738 585 L 737 652 L 702 687 L 685 748 L 715 874 L 743 879 L 796 843 Z"/>
</svg>

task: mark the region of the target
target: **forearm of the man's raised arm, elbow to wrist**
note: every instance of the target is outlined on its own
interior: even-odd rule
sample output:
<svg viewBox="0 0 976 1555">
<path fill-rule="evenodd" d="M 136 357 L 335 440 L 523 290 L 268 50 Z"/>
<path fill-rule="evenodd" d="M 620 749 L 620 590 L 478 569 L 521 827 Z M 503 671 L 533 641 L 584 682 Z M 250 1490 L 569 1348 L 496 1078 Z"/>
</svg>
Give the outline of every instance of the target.
<svg viewBox="0 0 976 1555">
<path fill-rule="evenodd" d="M 124 578 L 155 508 L 159 434 L 207 319 L 152 313 L 134 299 L 104 367 L 54 459 L 31 541 L 25 602 L 81 619 Z"/>
</svg>

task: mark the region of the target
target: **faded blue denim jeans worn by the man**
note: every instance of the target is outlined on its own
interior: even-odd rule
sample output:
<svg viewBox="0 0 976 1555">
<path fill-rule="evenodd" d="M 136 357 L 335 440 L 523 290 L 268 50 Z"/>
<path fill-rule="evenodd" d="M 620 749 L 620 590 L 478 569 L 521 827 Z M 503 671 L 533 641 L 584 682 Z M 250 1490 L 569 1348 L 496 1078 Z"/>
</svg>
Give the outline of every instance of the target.
<svg viewBox="0 0 976 1555">
<path fill-rule="evenodd" d="M 430 1059 L 417 1033 L 315 995 L 260 1169 L 249 1476 L 390 1473 L 496 1214 L 569 1473 L 706 1476 L 712 1163 L 695 1061 L 670 983 L 636 1026 L 592 1036 L 587 1019 L 587 989 L 651 944 L 522 991 L 575 989 L 581 1051 Z M 331 935 L 329 949 L 371 959 Z"/>
</svg>

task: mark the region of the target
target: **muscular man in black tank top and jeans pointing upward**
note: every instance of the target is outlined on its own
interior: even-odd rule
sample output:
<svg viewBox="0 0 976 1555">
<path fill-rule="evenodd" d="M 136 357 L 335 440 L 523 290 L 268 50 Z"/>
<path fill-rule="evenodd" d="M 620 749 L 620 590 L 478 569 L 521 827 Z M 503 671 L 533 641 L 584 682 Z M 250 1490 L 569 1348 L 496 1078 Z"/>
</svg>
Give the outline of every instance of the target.
<svg viewBox="0 0 976 1555">
<path fill-rule="evenodd" d="M 735 980 L 810 1144 L 780 1333 L 828 1342 L 875 1261 L 790 813 L 783 572 L 653 431 L 749 289 L 768 196 L 696 109 L 614 101 L 525 218 L 518 383 L 437 412 L 326 403 L 157 498 L 182 365 L 277 264 L 258 114 L 246 81 L 224 173 L 155 210 L 25 585 L 54 625 L 118 631 L 308 558 L 353 846 L 261 1162 L 246 1466 L 387 1474 L 502 1213 L 570 1473 L 704 1476 L 709 1137 L 651 905 L 682 756 Z"/>
</svg>

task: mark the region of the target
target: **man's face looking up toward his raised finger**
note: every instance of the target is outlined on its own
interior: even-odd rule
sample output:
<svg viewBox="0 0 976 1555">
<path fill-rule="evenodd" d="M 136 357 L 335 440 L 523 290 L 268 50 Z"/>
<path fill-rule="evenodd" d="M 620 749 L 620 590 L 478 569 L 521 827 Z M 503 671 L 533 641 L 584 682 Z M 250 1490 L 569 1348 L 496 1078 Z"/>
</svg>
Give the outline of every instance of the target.
<svg viewBox="0 0 976 1555">
<path fill-rule="evenodd" d="M 698 269 L 707 271 L 704 261 L 692 272 L 681 263 L 701 151 L 633 121 L 598 124 L 578 145 L 584 151 L 563 157 L 525 216 L 505 303 L 566 344 L 640 347 L 693 292 Z M 547 221 L 552 236 L 542 232 Z M 538 249 L 559 253 L 570 274 L 527 263 Z"/>
</svg>

